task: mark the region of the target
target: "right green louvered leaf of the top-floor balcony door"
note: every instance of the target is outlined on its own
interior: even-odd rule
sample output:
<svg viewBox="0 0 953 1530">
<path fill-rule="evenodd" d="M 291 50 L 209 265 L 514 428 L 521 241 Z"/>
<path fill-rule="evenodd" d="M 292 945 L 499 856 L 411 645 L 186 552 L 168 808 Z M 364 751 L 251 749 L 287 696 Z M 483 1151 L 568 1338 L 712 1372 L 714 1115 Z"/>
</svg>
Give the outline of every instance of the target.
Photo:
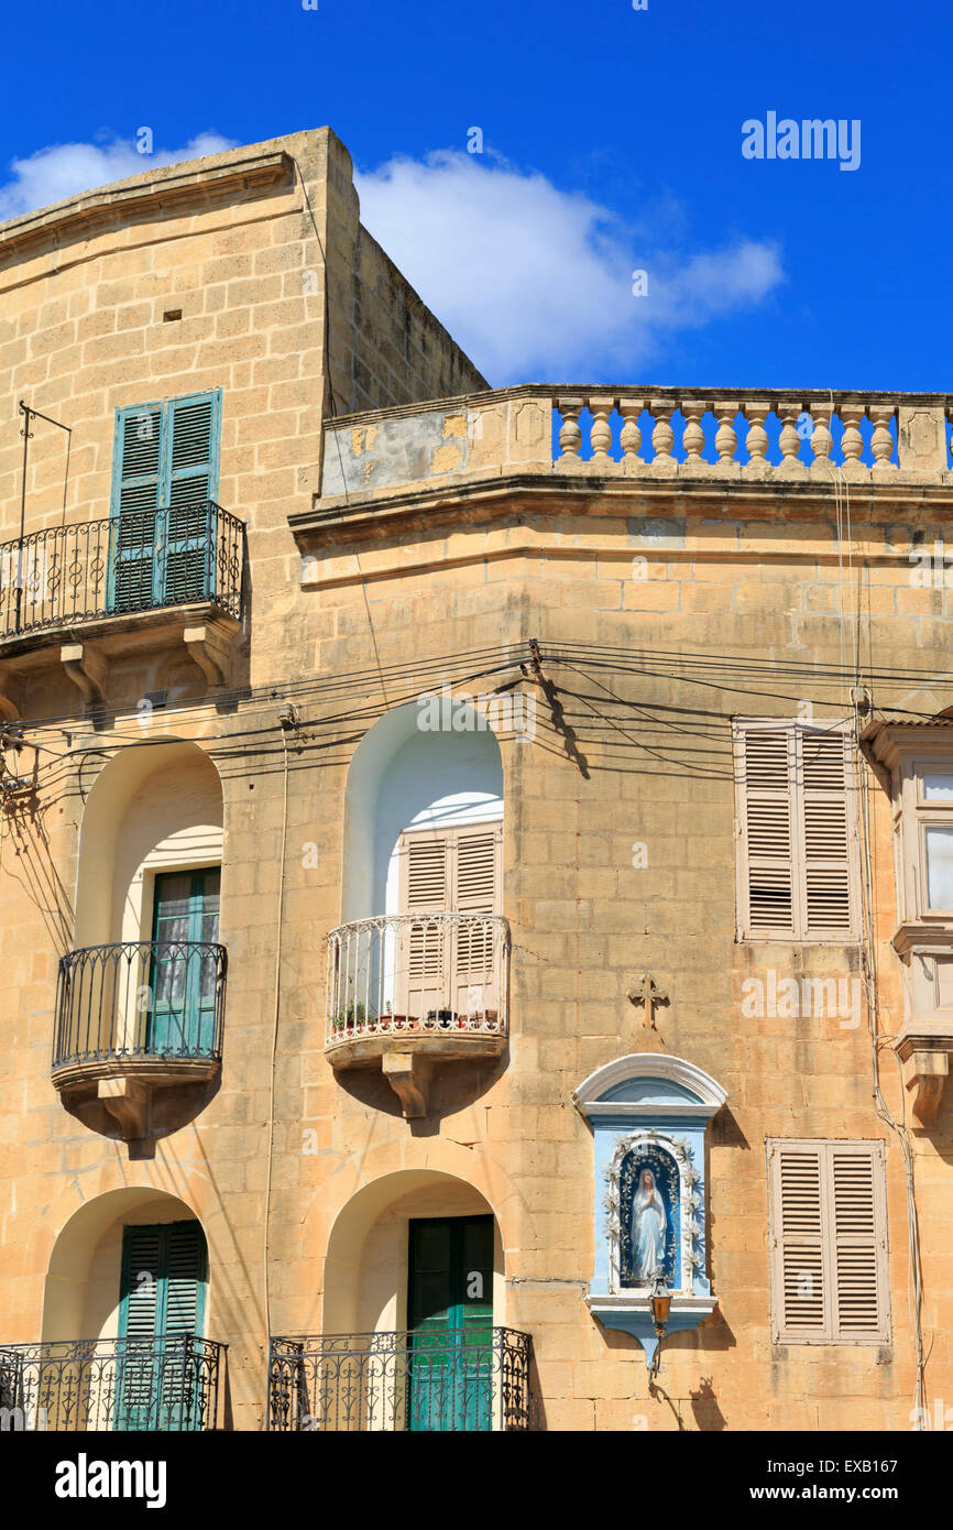
<svg viewBox="0 0 953 1530">
<path fill-rule="evenodd" d="M 214 592 L 214 522 L 219 454 L 217 395 L 168 405 L 168 525 L 164 604 L 185 606 Z"/>
</svg>

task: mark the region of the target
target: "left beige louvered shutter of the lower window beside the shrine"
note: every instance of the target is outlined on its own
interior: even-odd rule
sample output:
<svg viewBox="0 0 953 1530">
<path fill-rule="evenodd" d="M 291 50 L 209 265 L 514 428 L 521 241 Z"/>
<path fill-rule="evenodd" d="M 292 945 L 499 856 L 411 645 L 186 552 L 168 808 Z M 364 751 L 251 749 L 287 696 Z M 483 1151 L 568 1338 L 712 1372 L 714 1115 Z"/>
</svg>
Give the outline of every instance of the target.
<svg viewBox="0 0 953 1530">
<path fill-rule="evenodd" d="M 823 1343 L 828 1337 L 828 1259 L 823 1149 L 769 1143 L 772 1337 Z"/>
</svg>

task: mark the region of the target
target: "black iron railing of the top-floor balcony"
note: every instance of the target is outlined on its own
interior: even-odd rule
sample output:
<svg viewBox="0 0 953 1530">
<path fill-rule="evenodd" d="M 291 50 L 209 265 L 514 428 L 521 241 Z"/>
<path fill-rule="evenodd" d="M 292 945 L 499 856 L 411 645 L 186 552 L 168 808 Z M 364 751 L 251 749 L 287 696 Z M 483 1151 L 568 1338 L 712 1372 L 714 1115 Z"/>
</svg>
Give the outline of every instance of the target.
<svg viewBox="0 0 953 1530">
<path fill-rule="evenodd" d="M 0 543 L 0 638 L 210 603 L 242 617 L 245 525 L 214 500 Z"/>
</svg>

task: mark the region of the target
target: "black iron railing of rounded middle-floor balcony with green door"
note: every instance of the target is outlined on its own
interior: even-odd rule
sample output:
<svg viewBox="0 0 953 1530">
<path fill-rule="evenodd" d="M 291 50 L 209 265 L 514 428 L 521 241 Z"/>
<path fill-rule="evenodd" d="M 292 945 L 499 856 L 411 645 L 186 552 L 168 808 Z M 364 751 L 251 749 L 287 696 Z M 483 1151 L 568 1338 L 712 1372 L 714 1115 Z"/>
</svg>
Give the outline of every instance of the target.
<svg viewBox="0 0 953 1530">
<path fill-rule="evenodd" d="M 60 958 L 54 1069 L 121 1057 L 222 1057 L 228 953 L 124 941 Z"/>
</svg>

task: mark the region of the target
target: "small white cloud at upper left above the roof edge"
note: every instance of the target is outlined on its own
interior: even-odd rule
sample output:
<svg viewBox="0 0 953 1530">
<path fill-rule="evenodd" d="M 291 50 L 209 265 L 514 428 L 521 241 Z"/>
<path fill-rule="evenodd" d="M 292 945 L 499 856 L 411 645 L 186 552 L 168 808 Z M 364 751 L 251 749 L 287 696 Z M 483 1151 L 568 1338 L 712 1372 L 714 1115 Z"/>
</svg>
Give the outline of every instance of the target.
<svg viewBox="0 0 953 1530">
<path fill-rule="evenodd" d="M 199 133 L 184 148 L 162 148 L 141 155 L 135 142 L 115 139 L 112 144 L 50 144 L 28 159 L 14 159 L 14 179 L 0 187 L 0 220 L 32 213 L 35 208 L 63 202 L 80 191 L 141 176 L 154 165 L 174 165 L 181 159 L 220 155 L 234 144 L 219 133 Z"/>
</svg>

